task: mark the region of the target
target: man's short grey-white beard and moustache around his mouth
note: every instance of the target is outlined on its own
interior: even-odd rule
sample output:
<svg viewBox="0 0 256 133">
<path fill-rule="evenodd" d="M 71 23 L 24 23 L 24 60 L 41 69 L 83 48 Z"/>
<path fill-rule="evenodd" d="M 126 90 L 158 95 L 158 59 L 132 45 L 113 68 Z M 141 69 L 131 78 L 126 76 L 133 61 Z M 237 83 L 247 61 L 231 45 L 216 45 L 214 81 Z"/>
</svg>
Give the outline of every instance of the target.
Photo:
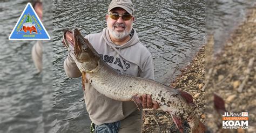
<svg viewBox="0 0 256 133">
<path fill-rule="evenodd" d="M 124 27 L 124 31 L 122 32 L 118 32 L 118 31 L 114 31 L 114 27 Z M 132 24 L 131 24 L 131 28 L 127 29 L 126 26 L 124 24 L 119 24 L 119 23 L 114 23 L 114 25 L 112 26 L 112 28 L 107 25 L 107 29 L 109 29 L 109 33 L 116 39 L 124 39 L 125 37 L 127 37 L 128 35 L 130 35 L 131 31 L 132 31 Z"/>
</svg>

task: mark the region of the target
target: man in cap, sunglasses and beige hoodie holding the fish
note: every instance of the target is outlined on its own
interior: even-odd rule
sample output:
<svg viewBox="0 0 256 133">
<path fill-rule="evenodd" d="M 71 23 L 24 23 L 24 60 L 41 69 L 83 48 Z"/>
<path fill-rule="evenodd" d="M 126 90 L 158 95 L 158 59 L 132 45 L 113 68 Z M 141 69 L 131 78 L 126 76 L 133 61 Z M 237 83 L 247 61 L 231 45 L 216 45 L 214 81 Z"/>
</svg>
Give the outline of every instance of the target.
<svg viewBox="0 0 256 133">
<path fill-rule="evenodd" d="M 114 0 L 106 14 L 107 28 L 101 33 L 85 36 L 112 68 L 133 76 L 154 79 L 150 52 L 139 42 L 135 29 L 132 2 Z M 69 77 L 80 77 L 71 53 L 64 62 Z M 84 99 L 90 119 L 97 132 L 142 132 L 142 111 L 134 102 L 115 101 L 105 97 L 89 83 L 85 84 Z M 143 108 L 159 108 L 151 96 L 144 94 Z"/>
</svg>

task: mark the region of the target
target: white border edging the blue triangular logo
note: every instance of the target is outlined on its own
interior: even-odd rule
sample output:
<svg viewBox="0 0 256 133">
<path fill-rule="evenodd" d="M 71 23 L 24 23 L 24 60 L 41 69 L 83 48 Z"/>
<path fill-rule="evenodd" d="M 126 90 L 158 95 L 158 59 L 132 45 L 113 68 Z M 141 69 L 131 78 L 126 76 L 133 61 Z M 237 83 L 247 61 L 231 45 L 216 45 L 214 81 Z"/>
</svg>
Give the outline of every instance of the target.
<svg viewBox="0 0 256 133">
<path fill-rule="evenodd" d="M 37 19 L 39 20 L 39 23 L 42 25 L 42 27 L 43 27 L 45 33 L 48 35 L 49 39 L 10 39 L 12 33 L 14 33 L 15 28 L 16 28 L 16 26 L 17 26 L 18 23 L 19 23 L 19 20 L 21 20 L 21 18 L 22 18 L 22 16 L 23 16 L 24 12 L 25 12 L 25 10 L 26 10 L 26 8 L 28 8 L 29 5 L 30 5 L 30 7 L 32 8 L 33 12 L 36 14 L 36 17 L 37 17 Z M 40 18 L 37 16 L 36 11 L 33 9 L 33 6 L 32 6 L 30 3 L 26 4 L 26 7 L 25 7 L 25 9 L 24 9 L 23 12 L 22 12 L 21 17 L 19 17 L 19 20 L 17 21 L 16 25 L 14 26 L 14 29 L 12 29 L 12 32 L 11 32 L 11 34 L 9 35 L 9 40 L 51 40 L 50 35 L 48 34 L 48 32 L 46 31 L 46 29 L 44 28 L 44 25 L 43 25 L 42 21 L 41 21 Z"/>
</svg>

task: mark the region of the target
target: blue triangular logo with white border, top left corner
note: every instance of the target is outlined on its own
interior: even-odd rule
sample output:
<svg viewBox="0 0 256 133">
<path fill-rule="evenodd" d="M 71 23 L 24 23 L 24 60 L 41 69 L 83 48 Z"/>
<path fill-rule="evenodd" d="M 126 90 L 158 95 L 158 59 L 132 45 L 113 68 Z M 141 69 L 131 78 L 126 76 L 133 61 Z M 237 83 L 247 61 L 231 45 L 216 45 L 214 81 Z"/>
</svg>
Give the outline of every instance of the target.
<svg viewBox="0 0 256 133">
<path fill-rule="evenodd" d="M 50 36 L 32 5 L 28 3 L 19 17 L 9 40 L 50 40 Z"/>
</svg>

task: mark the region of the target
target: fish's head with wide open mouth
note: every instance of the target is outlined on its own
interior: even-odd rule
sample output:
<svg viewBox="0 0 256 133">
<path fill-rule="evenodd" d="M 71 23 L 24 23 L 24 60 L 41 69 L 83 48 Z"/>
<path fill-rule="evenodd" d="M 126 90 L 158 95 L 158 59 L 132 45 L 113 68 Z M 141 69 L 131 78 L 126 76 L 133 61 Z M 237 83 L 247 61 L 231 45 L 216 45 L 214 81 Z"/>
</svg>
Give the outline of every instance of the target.
<svg viewBox="0 0 256 133">
<path fill-rule="evenodd" d="M 65 46 L 73 51 L 76 64 L 80 71 L 90 72 L 97 68 L 100 56 L 91 43 L 83 37 L 78 29 L 64 31 Z"/>
</svg>

